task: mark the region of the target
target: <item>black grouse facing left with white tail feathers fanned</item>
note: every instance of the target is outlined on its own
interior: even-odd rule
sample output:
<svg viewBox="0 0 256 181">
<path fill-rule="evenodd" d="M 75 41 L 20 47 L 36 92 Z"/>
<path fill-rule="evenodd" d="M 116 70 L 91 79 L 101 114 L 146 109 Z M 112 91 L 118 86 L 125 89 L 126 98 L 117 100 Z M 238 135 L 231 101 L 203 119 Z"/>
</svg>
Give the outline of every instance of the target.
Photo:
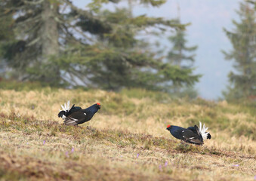
<svg viewBox="0 0 256 181">
<path fill-rule="evenodd" d="M 201 122 L 199 122 L 199 127 L 196 125 L 194 127 L 178 127 L 178 126 L 167 126 L 167 130 L 171 132 L 171 135 L 177 139 L 184 140 L 187 143 L 193 143 L 196 145 L 202 145 L 204 140 L 211 139 L 211 134 L 206 132 L 208 127 L 205 127 L 205 124 L 202 127 Z"/>
</svg>

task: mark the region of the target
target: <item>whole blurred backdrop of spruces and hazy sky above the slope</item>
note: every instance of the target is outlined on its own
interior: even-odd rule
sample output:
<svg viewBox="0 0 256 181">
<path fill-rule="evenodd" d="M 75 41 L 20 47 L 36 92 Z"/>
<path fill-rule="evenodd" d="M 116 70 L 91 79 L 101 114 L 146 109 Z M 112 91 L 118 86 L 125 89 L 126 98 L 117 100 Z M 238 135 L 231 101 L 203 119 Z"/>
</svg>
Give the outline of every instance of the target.
<svg viewBox="0 0 256 181">
<path fill-rule="evenodd" d="M 255 5 L 2 0 L 0 86 L 141 88 L 254 101 Z"/>
</svg>

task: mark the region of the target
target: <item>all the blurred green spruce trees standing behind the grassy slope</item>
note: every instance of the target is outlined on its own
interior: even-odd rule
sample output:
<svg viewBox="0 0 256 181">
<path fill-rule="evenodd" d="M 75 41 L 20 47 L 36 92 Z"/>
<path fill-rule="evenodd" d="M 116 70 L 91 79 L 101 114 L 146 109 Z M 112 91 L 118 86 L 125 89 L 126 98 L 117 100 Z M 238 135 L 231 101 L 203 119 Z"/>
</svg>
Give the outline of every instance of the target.
<svg viewBox="0 0 256 181">
<path fill-rule="evenodd" d="M 125 1 L 127 8 L 109 11 L 106 4 L 121 0 L 91 1 L 79 8 L 69 0 L 2 0 L 0 2 L 0 65 L 2 78 L 39 81 L 55 87 L 88 87 L 120 90 L 140 87 L 179 96 L 196 97 L 197 46 L 187 46 L 186 27 L 179 17 L 165 20 L 134 16 L 134 2 L 159 7 L 165 0 Z M 224 29 L 234 62 L 230 86 L 224 97 L 255 96 L 255 3 L 242 2 L 233 21 Z M 149 30 L 150 29 L 150 30 Z M 161 50 L 143 35 L 168 38 L 171 49 Z"/>
</svg>

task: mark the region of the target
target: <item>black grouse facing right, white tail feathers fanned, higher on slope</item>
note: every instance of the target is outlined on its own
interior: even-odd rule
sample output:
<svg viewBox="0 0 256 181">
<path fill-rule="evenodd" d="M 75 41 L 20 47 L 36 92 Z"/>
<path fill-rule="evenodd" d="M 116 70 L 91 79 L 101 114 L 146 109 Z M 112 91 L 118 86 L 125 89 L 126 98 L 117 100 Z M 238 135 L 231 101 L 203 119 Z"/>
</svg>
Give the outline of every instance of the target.
<svg viewBox="0 0 256 181">
<path fill-rule="evenodd" d="M 69 108 L 70 100 L 61 105 L 63 110 L 60 110 L 58 117 L 63 118 L 66 125 L 78 125 L 84 122 L 90 121 L 94 114 L 100 109 L 100 103 L 96 103 L 86 109 L 82 109 L 79 106 L 73 106 Z"/>
</svg>

